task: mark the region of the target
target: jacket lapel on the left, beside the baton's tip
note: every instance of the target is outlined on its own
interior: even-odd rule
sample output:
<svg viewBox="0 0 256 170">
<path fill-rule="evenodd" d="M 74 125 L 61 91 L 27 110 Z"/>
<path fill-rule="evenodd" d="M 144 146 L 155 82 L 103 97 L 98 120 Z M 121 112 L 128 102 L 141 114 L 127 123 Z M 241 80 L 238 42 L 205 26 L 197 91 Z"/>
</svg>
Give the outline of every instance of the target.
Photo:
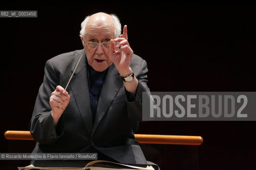
<svg viewBox="0 0 256 170">
<path fill-rule="evenodd" d="M 81 54 L 79 54 L 77 62 L 80 56 Z M 70 88 L 73 91 L 78 110 L 81 114 L 81 117 L 86 126 L 86 129 L 88 130 L 89 133 L 91 133 L 92 114 L 91 114 L 90 95 L 89 95 L 89 86 L 88 86 L 88 80 L 87 80 L 87 67 L 86 67 L 85 57 L 86 56 L 83 50 L 83 57 L 77 66 L 77 69 L 73 75 L 73 78 L 70 81 Z M 71 71 L 74 72 L 74 69 L 75 67 L 73 67 Z"/>
</svg>

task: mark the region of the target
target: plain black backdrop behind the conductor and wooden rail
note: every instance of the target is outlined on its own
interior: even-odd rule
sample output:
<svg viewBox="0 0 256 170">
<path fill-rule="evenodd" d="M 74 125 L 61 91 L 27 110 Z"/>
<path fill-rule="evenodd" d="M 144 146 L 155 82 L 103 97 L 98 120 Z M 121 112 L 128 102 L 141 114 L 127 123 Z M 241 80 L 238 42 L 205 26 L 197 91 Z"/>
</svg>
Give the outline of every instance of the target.
<svg viewBox="0 0 256 170">
<path fill-rule="evenodd" d="M 151 91 L 255 91 L 255 4 L 242 1 L 1 1 L 0 10 L 37 10 L 38 18 L 0 18 L 0 152 L 30 152 L 34 141 L 7 141 L 28 130 L 44 64 L 82 49 L 80 23 L 115 13 L 148 63 Z M 93 3 L 92 3 L 93 2 Z M 94 3 L 95 2 L 95 3 Z M 143 145 L 161 169 L 255 169 L 255 122 L 146 122 L 137 133 L 201 135 L 201 146 Z M 27 161 L 2 161 L 16 169 Z M 8 168 L 7 168 L 8 166 Z"/>
</svg>

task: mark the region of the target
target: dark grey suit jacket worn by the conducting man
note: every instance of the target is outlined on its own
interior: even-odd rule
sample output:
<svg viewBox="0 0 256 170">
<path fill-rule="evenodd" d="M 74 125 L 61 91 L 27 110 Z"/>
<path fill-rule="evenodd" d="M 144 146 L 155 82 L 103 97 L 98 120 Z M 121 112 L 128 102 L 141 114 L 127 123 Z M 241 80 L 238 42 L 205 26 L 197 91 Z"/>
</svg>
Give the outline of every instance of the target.
<svg viewBox="0 0 256 170">
<path fill-rule="evenodd" d="M 82 54 L 67 88 L 69 104 L 54 128 L 49 98 L 56 86 L 66 87 Z M 124 83 L 115 65 L 108 68 L 92 122 L 85 57 L 82 49 L 46 62 L 44 81 L 29 124 L 37 141 L 33 152 L 90 152 L 94 148 L 121 163 L 147 164 L 133 133 L 142 117 L 142 91 L 149 91 L 147 63 L 137 55 L 132 57 L 131 68 L 139 85 L 131 102 L 127 101 Z"/>
</svg>

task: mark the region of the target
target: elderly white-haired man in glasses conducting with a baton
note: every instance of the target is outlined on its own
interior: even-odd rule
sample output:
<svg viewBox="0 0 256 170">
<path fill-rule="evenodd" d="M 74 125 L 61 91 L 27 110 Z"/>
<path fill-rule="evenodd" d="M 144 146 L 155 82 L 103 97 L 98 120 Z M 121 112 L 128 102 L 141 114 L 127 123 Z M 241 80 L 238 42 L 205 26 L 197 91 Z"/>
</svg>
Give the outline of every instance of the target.
<svg viewBox="0 0 256 170">
<path fill-rule="evenodd" d="M 147 64 L 133 54 L 127 26 L 121 35 L 115 15 L 96 13 L 81 25 L 84 49 L 46 62 L 30 122 L 33 152 L 97 152 L 98 159 L 147 164 L 134 140 L 142 92 L 149 91 Z"/>
</svg>

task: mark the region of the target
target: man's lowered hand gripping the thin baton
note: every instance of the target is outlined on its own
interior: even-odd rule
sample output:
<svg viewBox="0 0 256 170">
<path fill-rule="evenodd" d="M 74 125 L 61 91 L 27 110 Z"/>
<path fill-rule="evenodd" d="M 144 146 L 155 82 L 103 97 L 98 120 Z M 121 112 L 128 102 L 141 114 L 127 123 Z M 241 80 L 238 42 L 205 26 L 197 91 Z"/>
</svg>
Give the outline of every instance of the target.
<svg viewBox="0 0 256 170">
<path fill-rule="evenodd" d="M 52 92 L 50 97 L 50 105 L 52 107 L 52 118 L 53 124 L 56 127 L 60 116 L 65 111 L 68 106 L 70 96 L 68 92 L 61 86 L 57 86 L 56 89 Z"/>
</svg>

